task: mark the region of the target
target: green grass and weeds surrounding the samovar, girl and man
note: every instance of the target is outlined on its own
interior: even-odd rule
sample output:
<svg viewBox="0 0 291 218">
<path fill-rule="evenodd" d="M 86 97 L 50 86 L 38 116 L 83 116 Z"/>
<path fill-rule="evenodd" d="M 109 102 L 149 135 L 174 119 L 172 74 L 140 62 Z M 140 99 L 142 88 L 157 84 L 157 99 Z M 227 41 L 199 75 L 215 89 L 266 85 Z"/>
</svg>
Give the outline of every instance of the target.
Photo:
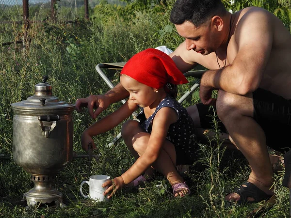
<svg viewBox="0 0 291 218">
<path fill-rule="evenodd" d="M 100 6 L 101 7 L 101 6 Z M 113 6 L 112 6 L 113 7 Z M 30 30 L 29 48 L 21 45 L 0 47 L 0 217 L 3 218 L 241 218 L 247 217 L 261 203 L 237 206 L 224 201 L 233 187 L 247 179 L 250 168 L 238 151 L 200 144 L 200 159 L 183 174 L 191 187 L 191 195 L 174 198 L 167 180 L 156 180 L 139 188 L 124 188 L 110 202 L 90 202 L 81 197 L 79 188 L 90 175 L 107 174 L 112 178 L 126 171 L 134 162 L 123 141 L 110 149 L 106 145 L 119 133 L 121 125 L 95 138 L 100 160 L 76 158 L 58 175 L 54 186 L 64 194 L 65 208 L 40 204 L 26 209 L 23 193 L 33 187 L 30 175 L 13 161 L 13 110 L 11 103 L 33 95 L 34 85 L 48 75 L 53 95 L 66 102 L 76 102 L 89 94 L 109 90 L 95 70 L 102 62 L 126 62 L 148 47 L 166 45 L 174 49 L 183 40 L 164 28 L 168 23 L 167 8 L 118 11 L 109 6 L 96 9 L 91 21 L 76 19 L 74 23 L 34 24 Z M 121 10 L 121 9 L 118 9 Z M 159 13 L 156 13 L 159 10 Z M 105 16 L 108 15 L 108 16 Z M 110 16 L 109 16 L 110 15 Z M 173 26 L 172 26 L 173 27 Z M 15 34 L 18 30 L 15 30 Z M 160 31 L 162 30 L 162 31 Z M 1 33 L 2 34 L 2 33 Z M 6 34 L 6 33 L 4 33 Z M 22 34 L 20 32 L 20 34 Z M 1 35 L 1 40 L 3 35 Z M 2 41 L 3 42 L 3 41 Z M 118 82 L 115 70 L 105 70 Z M 195 83 L 179 86 L 180 95 Z M 184 106 L 199 102 L 198 92 Z M 99 118 L 114 111 L 121 103 L 111 105 Z M 93 121 L 86 109 L 72 114 L 74 119 L 74 151 L 81 149 L 81 133 Z M 260 215 L 269 218 L 289 217 L 289 190 L 282 187 L 284 172 L 275 175 L 277 203 Z M 87 186 L 86 186 L 87 188 Z"/>
</svg>

